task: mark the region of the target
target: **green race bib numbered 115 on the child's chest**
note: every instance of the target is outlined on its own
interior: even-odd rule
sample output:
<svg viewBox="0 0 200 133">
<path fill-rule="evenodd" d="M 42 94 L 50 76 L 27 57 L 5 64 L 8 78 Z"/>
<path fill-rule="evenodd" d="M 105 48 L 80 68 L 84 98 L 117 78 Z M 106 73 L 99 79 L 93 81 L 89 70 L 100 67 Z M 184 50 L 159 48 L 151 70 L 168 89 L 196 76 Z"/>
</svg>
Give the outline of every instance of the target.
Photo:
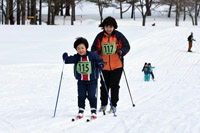
<svg viewBox="0 0 200 133">
<path fill-rule="evenodd" d="M 90 61 L 79 61 L 76 70 L 79 74 L 91 74 L 92 66 Z"/>
</svg>

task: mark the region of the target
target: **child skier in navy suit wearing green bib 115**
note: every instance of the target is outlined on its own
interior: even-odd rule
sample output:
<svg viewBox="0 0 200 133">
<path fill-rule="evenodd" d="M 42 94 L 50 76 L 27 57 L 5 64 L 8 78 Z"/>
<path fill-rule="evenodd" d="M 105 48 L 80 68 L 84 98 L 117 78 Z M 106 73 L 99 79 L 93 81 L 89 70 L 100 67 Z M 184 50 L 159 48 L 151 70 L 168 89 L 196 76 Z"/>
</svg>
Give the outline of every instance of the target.
<svg viewBox="0 0 200 133">
<path fill-rule="evenodd" d="M 78 80 L 78 115 L 77 118 L 83 117 L 85 110 L 85 99 L 89 100 L 91 108 L 91 117 L 97 118 L 97 81 L 99 77 L 99 69 L 103 68 L 103 59 L 96 53 L 87 51 L 88 41 L 79 37 L 74 42 L 74 48 L 77 54 L 68 56 L 63 54 L 65 64 L 74 64 L 74 76 Z"/>
</svg>

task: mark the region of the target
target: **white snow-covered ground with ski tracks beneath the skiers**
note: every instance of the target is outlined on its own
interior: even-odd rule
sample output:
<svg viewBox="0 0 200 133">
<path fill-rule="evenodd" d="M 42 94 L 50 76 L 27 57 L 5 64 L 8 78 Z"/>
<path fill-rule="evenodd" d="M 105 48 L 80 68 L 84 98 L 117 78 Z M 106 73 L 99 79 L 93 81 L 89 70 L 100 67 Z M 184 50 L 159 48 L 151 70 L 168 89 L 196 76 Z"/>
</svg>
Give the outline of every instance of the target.
<svg viewBox="0 0 200 133">
<path fill-rule="evenodd" d="M 77 114 L 77 86 L 73 65 L 65 65 L 60 98 L 52 118 L 62 53 L 74 54 L 73 42 L 83 36 L 90 45 L 101 31 L 98 20 L 75 26 L 0 26 L 0 132 L 1 133 L 199 133 L 200 132 L 200 33 L 191 22 L 161 19 L 156 27 L 141 27 L 133 20 L 117 20 L 129 40 L 125 57 L 133 108 L 122 76 L 117 117 L 103 116 L 91 123 L 87 101 L 83 120 L 72 123 Z M 78 22 L 77 22 L 78 23 Z M 135 23 L 141 24 L 140 20 Z M 187 53 L 187 37 L 197 40 Z M 89 48 L 90 49 L 90 48 Z M 156 81 L 143 81 L 141 69 L 151 62 Z M 98 108 L 100 106 L 98 95 Z"/>
</svg>

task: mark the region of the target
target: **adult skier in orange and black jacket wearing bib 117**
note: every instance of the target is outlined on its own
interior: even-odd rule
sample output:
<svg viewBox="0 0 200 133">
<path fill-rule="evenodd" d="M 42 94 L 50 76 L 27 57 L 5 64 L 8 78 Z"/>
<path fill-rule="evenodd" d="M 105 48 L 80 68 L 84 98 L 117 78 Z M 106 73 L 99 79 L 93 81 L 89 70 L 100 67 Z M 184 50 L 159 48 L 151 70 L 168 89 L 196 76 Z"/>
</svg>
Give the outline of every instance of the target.
<svg viewBox="0 0 200 133">
<path fill-rule="evenodd" d="M 119 101 L 119 83 L 123 71 L 123 56 L 130 50 L 130 45 L 126 37 L 117 31 L 117 22 L 113 17 L 107 17 L 99 25 L 103 31 L 100 32 L 91 47 L 91 51 L 99 54 L 104 60 L 102 70 L 107 89 L 101 79 L 101 111 L 105 111 L 108 104 L 108 95 L 106 91 L 111 90 L 111 103 L 116 112 L 117 102 Z M 112 112 L 112 108 L 110 108 Z"/>
</svg>

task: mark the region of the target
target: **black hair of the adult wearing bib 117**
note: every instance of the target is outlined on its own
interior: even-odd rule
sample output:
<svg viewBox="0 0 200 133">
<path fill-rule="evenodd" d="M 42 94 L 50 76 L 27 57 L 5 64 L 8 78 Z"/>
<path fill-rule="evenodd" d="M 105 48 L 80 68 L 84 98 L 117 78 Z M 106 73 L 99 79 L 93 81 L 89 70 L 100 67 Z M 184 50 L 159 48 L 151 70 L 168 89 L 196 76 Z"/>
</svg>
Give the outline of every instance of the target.
<svg viewBox="0 0 200 133">
<path fill-rule="evenodd" d="M 113 26 L 115 29 L 118 27 L 116 20 L 111 16 L 105 18 L 99 25 L 99 27 L 102 27 L 102 29 L 104 29 L 104 26 Z"/>
</svg>

